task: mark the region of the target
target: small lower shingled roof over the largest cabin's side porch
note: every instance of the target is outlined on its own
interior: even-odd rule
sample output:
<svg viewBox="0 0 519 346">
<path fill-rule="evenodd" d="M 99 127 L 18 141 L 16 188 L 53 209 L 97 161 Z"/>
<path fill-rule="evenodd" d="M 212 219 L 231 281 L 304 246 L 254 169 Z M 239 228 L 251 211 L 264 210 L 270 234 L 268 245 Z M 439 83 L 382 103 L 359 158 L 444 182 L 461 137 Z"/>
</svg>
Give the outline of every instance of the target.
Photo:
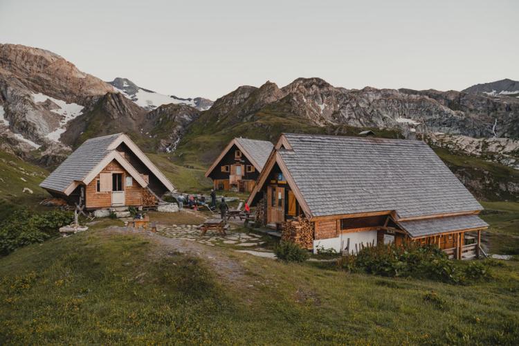
<svg viewBox="0 0 519 346">
<path fill-rule="evenodd" d="M 488 227 L 477 215 L 459 215 L 452 217 L 436 217 L 432 219 L 399 221 L 399 226 L 413 238 L 426 237 L 438 233 L 455 232 L 473 228 Z"/>
</svg>

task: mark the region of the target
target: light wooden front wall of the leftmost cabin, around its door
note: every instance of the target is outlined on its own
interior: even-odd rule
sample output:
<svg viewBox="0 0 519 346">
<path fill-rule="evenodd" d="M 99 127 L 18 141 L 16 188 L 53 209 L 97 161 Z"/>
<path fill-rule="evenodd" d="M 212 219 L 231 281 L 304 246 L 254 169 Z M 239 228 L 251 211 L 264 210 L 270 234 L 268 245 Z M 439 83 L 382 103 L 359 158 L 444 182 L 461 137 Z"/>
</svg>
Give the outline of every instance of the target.
<svg viewBox="0 0 519 346">
<path fill-rule="evenodd" d="M 115 160 L 111 161 L 104 167 L 101 173 L 122 173 L 122 186 L 125 190 L 126 206 L 141 206 L 143 204 L 143 188 L 138 185 L 135 179 L 132 179 L 132 185 L 126 186 L 126 176 L 129 174 Z M 111 207 L 111 192 L 97 192 L 97 181 L 99 174 L 86 185 L 85 203 L 86 208 L 109 208 Z"/>
</svg>

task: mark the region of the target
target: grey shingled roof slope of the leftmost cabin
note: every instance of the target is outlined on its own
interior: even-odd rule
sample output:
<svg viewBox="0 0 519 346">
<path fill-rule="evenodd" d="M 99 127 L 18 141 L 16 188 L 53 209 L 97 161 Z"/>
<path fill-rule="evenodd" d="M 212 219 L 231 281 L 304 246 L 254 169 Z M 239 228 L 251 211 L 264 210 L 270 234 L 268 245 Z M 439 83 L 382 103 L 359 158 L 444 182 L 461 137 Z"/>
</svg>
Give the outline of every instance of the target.
<svg viewBox="0 0 519 346">
<path fill-rule="evenodd" d="M 82 180 L 109 154 L 109 145 L 120 135 L 111 134 L 85 140 L 39 185 L 50 190 L 64 191 L 73 181 Z"/>
</svg>

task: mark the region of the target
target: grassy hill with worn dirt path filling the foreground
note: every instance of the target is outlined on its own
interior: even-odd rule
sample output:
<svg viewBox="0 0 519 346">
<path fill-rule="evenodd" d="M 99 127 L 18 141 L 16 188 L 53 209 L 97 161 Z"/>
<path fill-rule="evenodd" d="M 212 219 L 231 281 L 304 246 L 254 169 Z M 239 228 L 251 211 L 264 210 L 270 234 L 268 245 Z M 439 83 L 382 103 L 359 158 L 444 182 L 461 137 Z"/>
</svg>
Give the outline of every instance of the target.
<svg viewBox="0 0 519 346">
<path fill-rule="evenodd" d="M 494 267 L 491 282 L 453 286 L 229 248 L 192 257 L 156 236 L 104 230 L 108 224 L 0 258 L 1 344 L 519 340 L 515 261 Z"/>
</svg>

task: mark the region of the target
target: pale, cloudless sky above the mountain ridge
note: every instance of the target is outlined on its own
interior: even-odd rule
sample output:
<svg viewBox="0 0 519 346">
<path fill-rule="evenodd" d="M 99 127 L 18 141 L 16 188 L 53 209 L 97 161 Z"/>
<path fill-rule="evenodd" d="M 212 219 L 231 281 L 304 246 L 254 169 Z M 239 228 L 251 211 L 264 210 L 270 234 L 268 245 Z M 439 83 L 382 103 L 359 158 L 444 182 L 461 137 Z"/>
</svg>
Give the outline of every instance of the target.
<svg viewBox="0 0 519 346">
<path fill-rule="evenodd" d="M 519 1 L 0 0 L 0 43 L 180 97 L 299 77 L 461 90 L 519 80 Z"/>
</svg>

